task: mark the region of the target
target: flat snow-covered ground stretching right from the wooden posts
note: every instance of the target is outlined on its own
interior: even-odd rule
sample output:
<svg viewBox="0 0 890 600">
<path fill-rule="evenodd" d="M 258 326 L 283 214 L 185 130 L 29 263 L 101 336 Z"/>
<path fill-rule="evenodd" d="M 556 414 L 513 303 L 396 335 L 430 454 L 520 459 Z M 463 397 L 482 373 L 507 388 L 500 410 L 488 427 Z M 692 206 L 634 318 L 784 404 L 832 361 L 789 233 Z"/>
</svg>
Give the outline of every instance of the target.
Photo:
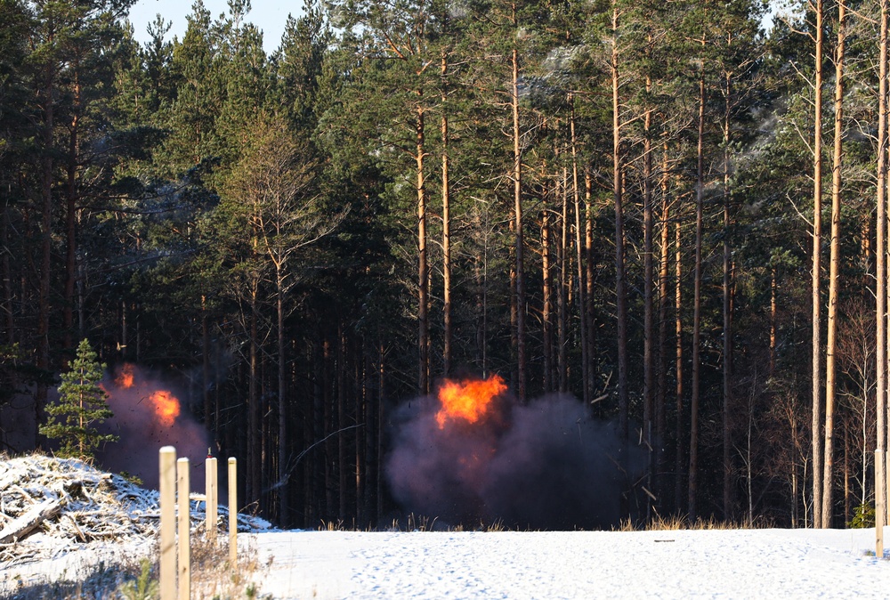
<svg viewBox="0 0 890 600">
<path fill-rule="evenodd" d="M 887 533 L 890 534 L 890 528 Z M 280 531 L 275 598 L 886 598 L 874 530 Z M 871 555 L 869 555 L 871 553 Z"/>
</svg>

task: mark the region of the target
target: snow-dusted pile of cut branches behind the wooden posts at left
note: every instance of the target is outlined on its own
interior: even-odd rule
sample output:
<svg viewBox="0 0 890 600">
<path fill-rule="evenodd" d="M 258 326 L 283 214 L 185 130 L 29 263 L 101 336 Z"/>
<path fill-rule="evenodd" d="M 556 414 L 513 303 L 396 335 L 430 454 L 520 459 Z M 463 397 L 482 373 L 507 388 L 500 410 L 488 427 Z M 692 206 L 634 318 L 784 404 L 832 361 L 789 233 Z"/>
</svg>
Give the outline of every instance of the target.
<svg viewBox="0 0 890 600">
<path fill-rule="evenodd" d="M 204 526 L 206 502 L 190 501 L 192 529 Z M 219 523 L 228 523 L 219 507 Z M 53 558 L 90 542 L 145 541 L 158 533 L 158 491 L 76 458 L 0 455 L 0 564 Z M 239 531 L 269 523 L 239 515 Z"/>
</svg>

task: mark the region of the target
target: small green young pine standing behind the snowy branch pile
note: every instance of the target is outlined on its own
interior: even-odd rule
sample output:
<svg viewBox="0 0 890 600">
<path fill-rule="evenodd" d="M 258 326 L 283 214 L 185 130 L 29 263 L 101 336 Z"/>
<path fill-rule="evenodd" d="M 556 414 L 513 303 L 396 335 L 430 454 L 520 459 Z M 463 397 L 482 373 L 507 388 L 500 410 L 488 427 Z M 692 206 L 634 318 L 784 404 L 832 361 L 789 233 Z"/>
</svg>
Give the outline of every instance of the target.
<svg viewBox="0 0 890 600">
<path fill-rule="evenodd" d="M 59 456 L 93 458 L 101 444 L 117 442 L 117 435 L 101 434 L 95 428 L 114 416 L 108 395 L 99 385 L 104 369 L 89 341 L 82 340 L 71 369 L 61 375 L 59 401 L 46 408 L 48 422 L 40 427 L 40 434 L 61 441 Z"/>
</svg>

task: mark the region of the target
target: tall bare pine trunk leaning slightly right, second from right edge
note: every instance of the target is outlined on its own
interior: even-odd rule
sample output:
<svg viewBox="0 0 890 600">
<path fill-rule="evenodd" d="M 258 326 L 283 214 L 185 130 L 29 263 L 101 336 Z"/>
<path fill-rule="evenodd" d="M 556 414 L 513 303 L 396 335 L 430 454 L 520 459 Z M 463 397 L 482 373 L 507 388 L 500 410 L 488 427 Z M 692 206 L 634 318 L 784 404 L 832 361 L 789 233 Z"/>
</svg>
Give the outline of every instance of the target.
<svg viewBox="0 0 890 600">
<path fill-rule="evenodd" d="M 822 478 L 822 527 L 831 526 L 834 466 L 835 352 L 837 350 L 837 295 L 840 288 L 840 186 L 844 134 L 844 42 L 846 6 L 837 3 L 837 59 L 835 61 L 835 140 L 831 165 L 831 264 L 829 268 L 828 337 L 825 352 L 825 460 Z M 818 476 L 818 475 L 817 475 Z"/>
</svg>

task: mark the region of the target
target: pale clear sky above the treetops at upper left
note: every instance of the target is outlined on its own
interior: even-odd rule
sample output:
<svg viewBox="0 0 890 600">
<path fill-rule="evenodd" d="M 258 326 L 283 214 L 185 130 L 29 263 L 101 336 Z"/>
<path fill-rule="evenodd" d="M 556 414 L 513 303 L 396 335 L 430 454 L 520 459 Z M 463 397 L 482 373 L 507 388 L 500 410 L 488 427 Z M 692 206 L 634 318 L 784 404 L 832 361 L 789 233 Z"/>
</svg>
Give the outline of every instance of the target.
<svg viewBox="0 0 890 600">
<path fill-rule="evenodd" d="M 177 36 L 182 39 L 186 27 L 185 17 L 191 14 L 192 4 L 193 0 L 138 0 L 130 9 L 130 22 L 133 23 L 136 40 L 143 43 L 149 41 L 146 28 L 155 20 L 155 15 L 158 13 L 164 20 L 173 22 L 167 38 L 173 39 L 173 36 Z M 266 53 L 271 53 L 281 42 L 287 15 L 293 13 L 295 17 L 298 16 L 302 12 L 303 2 L 302 0 L 252 0 L 250 4 L 251 10 L 247 13 L 247 20 L 263 30 L 263 47 Z M 229 12 L 227 0 L 204 0 L 204 5 L 214 19 L 220 14 Z"/>
</svg>

